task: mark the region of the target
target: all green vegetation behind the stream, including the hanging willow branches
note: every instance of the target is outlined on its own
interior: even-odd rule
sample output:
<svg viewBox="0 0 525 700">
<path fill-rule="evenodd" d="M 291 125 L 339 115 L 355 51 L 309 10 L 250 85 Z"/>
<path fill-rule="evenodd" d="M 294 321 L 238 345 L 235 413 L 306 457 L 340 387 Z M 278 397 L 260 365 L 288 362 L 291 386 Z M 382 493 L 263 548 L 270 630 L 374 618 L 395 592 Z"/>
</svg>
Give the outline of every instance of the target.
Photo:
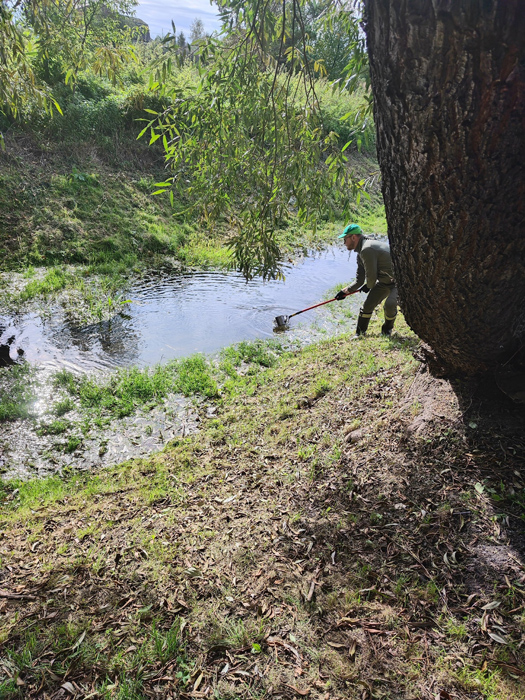
<svg viewBox="0 0 525 700">
<path fill-rule="evenodd" d="M 251 58 L 242 68 L 242 76 L 231 74 L 225 81 L 232 57 L 236 55 L 234 45 L 227 38 L 205 37 L 197 27 L 189 46 L 175 35 L 167 36 L 162 42 L 141 42 L 140 33 L 130 28 L 127 20 L 123 21 L 133 5 L 133 2 L 114 0 L 102 10 L 101 3 L 92 0 L 86 6 L 89 13 L 71 14 L 66 4 L 55 5 L 46 0 L 25 3 L 23 12 L 17 15 L 13 11 L 9 14 L 9 2 L 2 3 L 3 26 L 12 33 L 11 44 L 6 43 L 4 51 L 9 53 L 10 50 L 13 60 L 15 56 L 20 58 L 26 78 L 30 76 L 24 85 L 32 85 L 38 91 L 33 94 L 29 87 L 24 94 L 17 90 L 6 91 L 0 102 L 0 128 L 7 146 L 2 190 L 4 202 L 14 204 L 10 218 L 2 222 L 1 227 L 7 262 L 18 259 L 25 264 L 52 264 L 56 256 L 61 256 L 62 263 L 93 263 L 100 259 L 102 252 L 111 254 L 112 249 L 118 249 L 118 257 L 123 251 L 129 255 L 130 249 L 136 248 L 146 253 L 163 249 L 173 255 L 184 238 L 180 225 L 185 223 L 204 224 L 209 230 L 221 231 L 236 254 L 235 264 L 246 274 L 274 274 L 277 259 L 287 249 L 285 246 L 281 250 L 282 231 L 291 220 L 309 218 L 307 208 L 320 223 L 333 221 L 345 212 L 347 215 L 351 211 L 355 213 L 356 194 L 359 190 L 366 191 L 375 166 L 367 163 L 353 170 L 347 167 L 347 155 L 359 151 L 372 155 L 374 129 L 366 116 L 369 108 L 366 79 L 359 83 L 357 91 L 352 92 L 341 84 L 336 87 L 344 76 L 348 60 L 358 49 L 362 52 L 362 39 L 345 34 L 350 25 L 345 23 L 344 13 L 338 22 L 327 25 L 323 20 L 326 3 L 308 5 L 305 19 L 311 46 L 307 60 L 315 76 L 312 94 L 312 86 L 303 80 L 296 58 L 289 56 L 282 69 L 279 68 L 283 46 L 268 45 L 269 64 L 260 53 L 250 51 Z M 242 33 L 246 16 L 242 9 L 237 10 L 222 6 L 225 21 L 233 11 Z M 55 12 L 58 15 L 55 16 Z M 278 14 L 274 20 L 279 22 Z M 60 31 L 61 22 L 68 27 L 70 46 L 67 48 Z M 284 43 L 292 46 L 294 41 L 292 36 Z M 320 56 L 323 51 L 328 56 L 328 47 L 333 47 L 329 68 Z M 239 79 L 251 85 L 250 94 L 242 90 Z M 225 82 L 230 85 L 229 97 L 222 94 Z M 274 158 L 275 133 L 272 135 L 272 131 L 277 125 L 272 127 L 268 121 L 278 111 L 273 97 L 276 85 L 280 86 L 279 100 L 284 100 L 282 126 L 287 125 L 288 140 L 295 141 L 297 152 L 297 157 L 289 154 L 286 158 L 286 172 L 282 170 L 283 154 L 279 154 L 278 167 Z M 239 88 L 240 93 L 245 93 L 243 102 L 235 97 L 235 90 Z M 210 108 L 214 94 L 217 101 Z M 250 107 L 252 98 L 254 102 Z M 313 106 L 312 98 L 315 107 L 305 111 L 305 100 Z M 147 124 L 152 118 L 156 126 L 144 130 L 140 120 Z M 163 126 L 159 127 L 159 123 Z M 163 133 L 166 128 L 172 130 L 176 138 Z M 141 131 L 144 133 L 140 145 L 132 145 Z M 173 150 L 177 138 L 182 147 Z M 143 149 L 148 142 L 151 149 L 146 155 Z M 317 156 L 308 156 L 307 142 L 310 146 L 318 142 L 321 150 Z M 234 143 L 235 146 L 231 152 L 217 156 L 217 143 Z M 343 155 L 345 149 L 347 154 Z M 44 159 L 42 151 L 49 156 Z M 339 153 L 337 163 L 330 162 L 331 151 Z M 32 160 L 29 172 L 24 172 L 24 153 Z M 67 158 L 54 158 L 59 154 Z M 318 158 L 317 164 L 315 158 Z M 142 163 L 144 160 L 146 163 Z M 250 162 L 259 163 L 259 175 L 250 174 Z M 39 167 L 43 163 L 51 166 L 47 177 Z M 14 169 L 9 165 L 14 165 Z M 100 172 L 100 166 L 115 168 L 122 177 L 123 192 L 117 193 L 116 188 L 108 184 L 107 173 Z M 306 177 L 305 167 L 312 166 L 317 177 L 335 176 L 347 183 L 345 195 L 341 198 L 340 188 L 334 187 L 333 195 L 323 191 L 319 199 L 317 193 L 321 189 Z M 16 177 L 17 170 L 21 171 L 23 179 Z M 140 175 L 137 177 L 135 172 L 134 177 L 131 173 L 137 170 Z M 133 219 L 130 217 L 120 236 L 119 227 L 115 231 L 114 217 L 108 216 L 108 203 L 102 204 L 100 198 L 97 201 L 96 188 L 100 187 L 102 192 L 109 190 L 109 206 L 115 192 L 120 199 L 117 205 L 120 209 L 123 200 L 135 196 L 132 190 L 146 193 L 144 181 L 148 177 L 147 186 L 155 181 L 171 183 L 172 187 L 161 184 L 157 191 L 171 190 L 176 224 L 165 227 L 161 222 L 160 227 L 168 231 L 165 236 L 158 236 L 158 227 L 157 231 L 151 230 L 155 229 L 151 219 L 150 226 L 146 227 L 149 230 L 145 231 L 144 222 L 129 223 Z M 30 193 L 26 178 L 31 183 Z M 135 188 L 137 180 L 139 187 Z M 376 184 L 377 178 L 372 176 L 372 180 Z M 259 201 L 261 196 L 267 197 L 268 187 L 276 188 L 272 197 L 274 203 L 270 203 L 271 216 L 267 216 L 268 205 Z M 43 206 L 48 199 L 52 200 L 51 206 Z M 140 204 L 135 201 L 132 206 L 142 207 L 144 197 L 139 195 L 135 199 Z M 359 199 L 360 194 L 357 201 Z M 377 209 L 378 204 L 376 198 L 372 209 Z M 40 209 L 40 215 L 35 219 L 31 210 L 36 208 Z M 153 218 L 167 213 L 165 202 L 149 209 Z M 95 226 L 103 230 L 95 230 L 94 235 L 89 236 L 94 240 L 84 241 L 84 236 L 76 234 L 86 215 L 90 225 L 93 223 L 90 211 L 102 212 L 104 216 L 98 218 L 105 218 L 106 226 Z M 62 222 L 57 221 L 60 218 Z M 267 218 L 269 224 L 265 223 Z M 13 225 L 17 229 L 16 236 Z M 107 230 L 110 227 L 111 234 Z M 256 250 L 257 229 L 273 251 L 270 256 L 266 243 L 261 246 L 260 253 Z M 188 230 L 184 233 L 188 234 Z M 253 237 L 251 252 L 242 250 L 243 236 Z M 159 238 L 163 240 L 153 240 Z M 248 264 L 251 255 L 260 255 L 260 264 Z"/>
</svg>

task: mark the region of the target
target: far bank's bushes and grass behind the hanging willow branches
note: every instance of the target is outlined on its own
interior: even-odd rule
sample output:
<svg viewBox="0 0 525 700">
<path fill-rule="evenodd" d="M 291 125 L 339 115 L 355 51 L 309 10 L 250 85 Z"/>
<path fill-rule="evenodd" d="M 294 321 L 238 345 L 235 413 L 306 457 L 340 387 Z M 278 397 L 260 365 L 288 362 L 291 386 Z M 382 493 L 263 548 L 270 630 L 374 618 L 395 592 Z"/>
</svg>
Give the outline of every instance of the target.
<svg viewBox="0 0 525 700">
<path fill-rule="evenodd" d="M 119 272 L 138 272 L 166 256 L 185 264 L 234 264 L 223 245 L 232 236 L 231 217 L 210 218 L 207 210 L 196 208 L 201 192 L 192 186 L 186 185 L 171 202 L 166 194 L 153 196 L 159 190 L 155 183 L 166 178 L 161 144 L 150 144 L 149 133 L 137 140 L 144 120 L 151 116 L 148 110 L 161 111 L 180 99 L 177 96 L 198 92 L 199 67 L 188 56 L 174 63 L 169 90 L 166 84 L 160 90 L 151 74 L 165 58 L 165 47 L 157 40 L 136 45 L 134 52 L 136 61 L 119 72 L 116 84 L 86 68 L 77 73 L 73 87 L 53 85 L 61 113 L 49 113 L 35 100 L 20 107 L 16 119 L 4 109 L 0 116 L 5 138 L 0 154 L 4 269 L 55 267 L 55 286 L 60 288 L 80 284 L 75 281 L 78 275 L 63 267 L 80 264 L 87 266 L 82 277 L 93 272 L 105 275 L 114 291 L 122 281 Z M 300 88 L 298 84 L 298 103 Z M 319 80 L 317 90 L 325 134 L 337 133 L 339 142 L 347 143 L 355 137 L 356 123 L 361 123 L 365 95 L 334 92 L 326 79 Z M 373 148 L 368 123 L 359 133 L 359 150 L 353 147 L 355 172 L 367 181 L 371 196 L 362 199 L 359 212 L 365 224 L 384 230 Z M 355 201 L 353 210 L 358 211 Z M 242 202 L 237 200 L 234 214 L 241 212 Z M 340 215 L 335 202 L 328 202 L 325 222 Z M 297 228 L 296 216 L 297 208 L 291 206 L 276 222 L 279 245 L 285 250 L 315 240 L 313 230 Z M 45 292 L 46 285 L 51 291 L 53 284 L 48 282 L 38 281 L 24 294 Z"/>
</svg>

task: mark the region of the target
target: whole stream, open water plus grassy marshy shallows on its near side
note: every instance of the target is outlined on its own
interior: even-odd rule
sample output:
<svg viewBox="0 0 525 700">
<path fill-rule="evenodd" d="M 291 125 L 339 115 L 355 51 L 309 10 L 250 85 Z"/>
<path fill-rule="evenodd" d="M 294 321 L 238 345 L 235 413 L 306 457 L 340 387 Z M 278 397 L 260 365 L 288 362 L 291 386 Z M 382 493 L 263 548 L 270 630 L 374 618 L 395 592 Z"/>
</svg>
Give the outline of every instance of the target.
<svg viewBox="0 0 525 700">
<path fill-rule="evenodd" d="M 19 364 L 0 367 L 0 475 L 92 470 L 193 432 L 196 406 L 218 395 L 231 367 L 256 357 L 266 365 L 347 328 L 354 297 L 294 319 L 286 333 L 273 332 L 273 318 L 333 296 L 352 276 L 348 253 L 334 246 L 291 267 L 286 283 L 159 272 L 129 288 L 129 303 L 108 322 L 73 322 L 57 301 L 0 315 L 10 358 L 23 352 Z M 328 280 L 339 286 L 327 289 Z"/>
</svg>

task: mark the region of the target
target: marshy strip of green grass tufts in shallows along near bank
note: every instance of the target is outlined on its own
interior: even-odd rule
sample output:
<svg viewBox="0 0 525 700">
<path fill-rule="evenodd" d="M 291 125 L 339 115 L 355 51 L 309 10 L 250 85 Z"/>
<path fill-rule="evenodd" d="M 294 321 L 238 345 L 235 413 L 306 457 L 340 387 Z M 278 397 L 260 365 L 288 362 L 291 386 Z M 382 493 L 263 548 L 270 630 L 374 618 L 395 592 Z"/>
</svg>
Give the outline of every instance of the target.
<svg viewBox="0 0 525 700">
<path fill-rule="evenodd" d="M 151 436 L 156 418 L 146 420 L 144 425 L 142 419 L 148 418 L 153 410 L 164 417 L 166 425 L 173 427 L 178 420 L 172 411 L 177 397 L 186 397 L 186 406 L 194 409 L 193 413 L 203 401 L 220 400 L 246 363 L 252 367 L 269 367 L 285 352 L 285 344 L 279 340 L 242 342 L 224 349 L 213 361 L 194 355 L 144 369 L 121 368 L 96 376 L 77 376 L 64 369 L 39 377 L 38 371 L 28 364 L 2 367 L 0 421 L 24 421 L 18 422 L 15 430 L 18 435 L 27 436 L 42 459 L 46 457 L 47 467 L 60 471 L 58 465 L 63 460 L 58 458 L 66 453 L 65 458 L 70 462 L 62 466 L 69 469 L 75 463 L 71 453 L 80 458 L 86 441 L 89 448 L 93 441 L 99 441 L 101 456 L 109 435 L 127 434 L 131 424 L 135 425 L 131 438 L 135 442 Z M 127 417 L 132 420 L 126 426 L 121 419 Z M 19 453 L 20 447 L 17 450 L 9 445 L 9 435 L 13 433 L 6 426 L 3 441 L 11 455 L 10 461 L 16 456 L 17 463 L 23 464 L 23 454 L 29 448 Z M 161 438 L 160 444 L 164 443 Z M 37 454 L 32 454 L 29 460 L 33 463 L 36 458 Z M 0 474 L 7 469 L 6 464 L 1 464 Z"/>
</svg>

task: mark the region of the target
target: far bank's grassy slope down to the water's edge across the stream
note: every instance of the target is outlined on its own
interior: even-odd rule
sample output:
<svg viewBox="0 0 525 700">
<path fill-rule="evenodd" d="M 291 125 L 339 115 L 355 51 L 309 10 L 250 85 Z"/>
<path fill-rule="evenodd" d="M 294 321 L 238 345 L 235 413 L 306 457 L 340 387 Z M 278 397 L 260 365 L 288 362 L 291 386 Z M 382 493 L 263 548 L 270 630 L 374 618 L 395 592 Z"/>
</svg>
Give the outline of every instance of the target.
<svg viewBox="0 0 525 700">
<path fill-rule="evenodd" d="M 363 228 L 385 233 L 377 162 L 354 153 L 351 167 L 368 180 L 353 207 Z M 376 173 L 375 175 L 373 175 Z M 230 269 L 227 222 L 211 226 L 153 193 L 165 178 L 162 152 L 132 134 L 104 147 L 62 143 L 36 133 L 6 136 L 0 151 L 0 304 L 20 308 L 60 296 L 84 321 L 108 318 L 118 292 L 149 270 Z M 316 230 L 291 210 L 278 244 L 293 256 L 332 243 L 342 226 L 330 212 Z M 10 272 L 18 272 L 15 284 Z"/>
</svg>

